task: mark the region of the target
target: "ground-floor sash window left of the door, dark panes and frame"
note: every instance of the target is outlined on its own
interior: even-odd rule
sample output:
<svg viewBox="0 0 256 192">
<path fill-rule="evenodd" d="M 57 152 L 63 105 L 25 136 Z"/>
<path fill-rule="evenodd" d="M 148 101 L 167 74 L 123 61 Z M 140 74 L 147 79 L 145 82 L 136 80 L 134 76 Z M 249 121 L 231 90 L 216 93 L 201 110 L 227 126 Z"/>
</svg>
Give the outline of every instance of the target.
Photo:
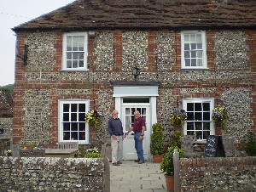
<svg viewBox="0 0 256 192">
<path fill-rule="evenodd" d="M 89 143 L 89 129 L 84 117 L 89 110 L 89 100 L 59 101 L 59 141 Z"/>
</svg>

